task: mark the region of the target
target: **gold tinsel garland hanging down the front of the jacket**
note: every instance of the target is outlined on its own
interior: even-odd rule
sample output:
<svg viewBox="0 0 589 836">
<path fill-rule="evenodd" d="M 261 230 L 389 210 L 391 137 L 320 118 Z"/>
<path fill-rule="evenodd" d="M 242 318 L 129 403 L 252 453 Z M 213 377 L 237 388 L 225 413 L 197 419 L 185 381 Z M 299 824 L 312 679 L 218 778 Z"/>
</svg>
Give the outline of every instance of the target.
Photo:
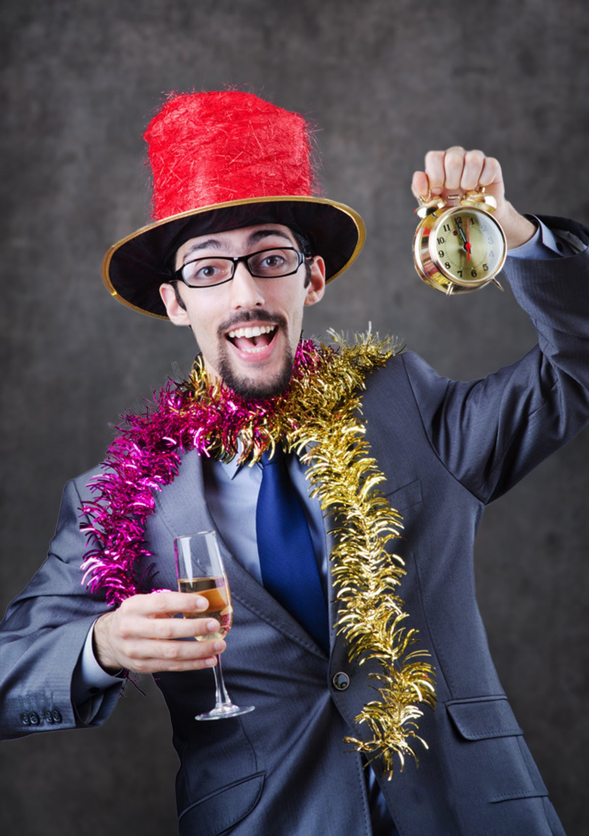
<svg viewBox="0 0 589 836">
<path fill-rule="evenodd" d="M 277 443 L 296 451 L 307 464 L 311 496 L 336 521 L 336 544 L 330 555 L 339 605 L 335 626 L 343 634 L 350 661 L 363 665 L 376 660 L 380 667 L 378 673 L 369 675 L 377 682 L 379 698 L 363 706 L 355 718 L 368 726 L 372 737 L 365 741 L 346 737 L 345 742 L 353 743 L 368 760 L 382 757 L 390 779 L 395 756 L 402 770 L 408 755 L 418 760 L 412 745 L 415 740 L 427 748 L 417 734 L 417 720 L 423 716 L 419 704 L 435 707 L 429 651 L 414 649 L 418 631 L 404 627 L 409 616 L 397 594 L 405 574 L 404 561 L 386 548 L 400 536 L 402 517 L 379 490 L 385 477 L 369 455 L 361 420 L 364 379 L 395 354 L 399 344 L 372 334 L 357 335 L 347 344 L 337 334 L 331 335 L 338 350 L 317 346 L 319 367 L 293 380 L 287 395 L 275 399 L 261 425 L 256 422 L 255 431 L 241 427 L 244 449 L 240 458 L 253 463 L 264 449 Z M 199 399 L 214 399 L 218 394 L 198 364 L 187 388 Z M 216 451 L 214 445 L 209 449 L 222 458 L 236 453 L 222 444 Z"/>
</svg>

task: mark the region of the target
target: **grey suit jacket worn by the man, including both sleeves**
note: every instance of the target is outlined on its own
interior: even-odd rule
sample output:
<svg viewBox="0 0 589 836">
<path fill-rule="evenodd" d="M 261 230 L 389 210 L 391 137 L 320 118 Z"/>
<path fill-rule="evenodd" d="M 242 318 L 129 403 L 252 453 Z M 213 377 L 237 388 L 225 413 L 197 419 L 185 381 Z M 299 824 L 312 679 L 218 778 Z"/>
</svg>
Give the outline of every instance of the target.
<svg viewBox="0 0 589 836">
<path fill-rule="evenodd" d="M 405 539 L 395 544 L 407 568 L 401 594 L 437 670 L 439 703 L 420 722 L 429 751 L 419 752 L 419 768 L 408 763 L 388 782 L 374 765 L 401 836 L 562 833 L 490 659 L 472 553 L 485 504 L 589 416 L 589 257 L 515 262 L 510 282 L 539 334 L 525 358 L 485 380 L 457 383 L 402 354 L 370 376 L 363 397 L 385 492 L 404 515 Z M 104 612 L 100 596 L 80 585 L 78 509 L 90 475 L 66 487 L 48 560 L 8 611 L 5 737 L 83 725 L 70 701 L 71 675 L 90 624 Z M 213 527 L 201 462 L 189 453 L 175 482 L 157 494 L 147 525 L 158 587 L 175 589 L 172 538 Z M 221 547 L 235 607 L 223 655 L 227 687 L 256 711 L 195 723 L 210 707 L 211 671 L 155 677 L 180 756 L 180 833 L 368 836 L 362 764 L 343 737 L 365 733 L 354 717 L 373 695 L 370 667 L 351 665 L 334 635 L 323 655 Z M 333 685 L 338 672 L 349 678 L 343 691 Z M 106 719 L 117 696 L 107 692 L 91 725 Z"/>
</svg>

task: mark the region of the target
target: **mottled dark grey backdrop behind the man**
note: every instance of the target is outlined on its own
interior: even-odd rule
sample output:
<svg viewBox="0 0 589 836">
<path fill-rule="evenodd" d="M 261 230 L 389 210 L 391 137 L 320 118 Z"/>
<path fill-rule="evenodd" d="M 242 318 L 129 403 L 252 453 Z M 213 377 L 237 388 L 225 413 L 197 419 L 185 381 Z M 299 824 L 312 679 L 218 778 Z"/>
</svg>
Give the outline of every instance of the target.
<svg viewBox="0 0 589 836">
<path fill-rule="evenodd" d="M 482 147 L 516 206 L 589 222 L 581 0 L 5 0 L 0 16 L 3 604 L 109 422 L 190 364 L 183 329 L 114 303 L 99 278 L 106 248 L 147 218 L 140 135 L 162 91 L 249 84 L 321 125 L 325 191 L 368 239 L 307 334 L 372 320 L 465 379 L 531 345 L 509 292 L 447 300 L 419 283 L 409 181 L 430 147 Z M 589 832 L 588 454 L 586 431 L 490 507 L 477 548 L 500 677 L 572 836 Z M 3 744 L 4 833 L 174 833 L 169 721 L 144 688 L 99 731 Z"/>
</svg>

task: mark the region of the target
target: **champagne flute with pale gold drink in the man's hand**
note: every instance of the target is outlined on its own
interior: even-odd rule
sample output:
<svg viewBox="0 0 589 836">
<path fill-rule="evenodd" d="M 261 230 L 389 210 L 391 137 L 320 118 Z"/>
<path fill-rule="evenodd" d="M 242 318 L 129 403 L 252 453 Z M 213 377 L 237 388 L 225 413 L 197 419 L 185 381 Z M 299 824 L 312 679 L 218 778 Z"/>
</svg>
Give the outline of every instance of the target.
<svg viewBox="0 0 589 836">
<path fill-rule="evenodd" d="M 219 545 L 214 531 L 200 531 L 184 534 L 174 538 L 174 553 L 178 590 L 187 594 L 199 594 L 209 602 L 208 608 L 201 613 L 184 614 L 190 619 L 214 618 L 219 622 L 219 630 L 210 635 L 196 635 L 195 640 L 207 641 L 223 639 L 231 628 L 233 608 L 231 594 L 221 559 Z M 255 706 L 241 708 L 231 702 L 223 680 L 221 670 L 221 655 L 216 655 L 216 666 L 213 667 L 216 686 L 216 706 L 206 714 L 195 716 L 195 720 L 222 720 L 224 717 L 235 717 L 247 714 Z"/>
</svg>

